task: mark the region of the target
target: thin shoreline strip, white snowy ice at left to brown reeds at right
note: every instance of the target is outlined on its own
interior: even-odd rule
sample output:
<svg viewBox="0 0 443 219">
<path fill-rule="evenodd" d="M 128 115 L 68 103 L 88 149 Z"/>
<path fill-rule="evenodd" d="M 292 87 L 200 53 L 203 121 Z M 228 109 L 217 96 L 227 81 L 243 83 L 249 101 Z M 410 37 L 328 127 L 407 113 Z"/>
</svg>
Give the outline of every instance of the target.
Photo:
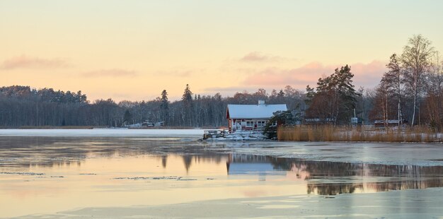
<svg viewBox="0 0 443 219">
<path fill-rule="evenodd" d="M 202 138 L 203 131 L 207 129 L 206 127 L 200 128 L 190 128 L 190 127 L 149 127 L 143 129 L 127 129 L 127 128 L 108 128 L 103 126 L 25 126 L 25 127 L 0 127 L 0 136 L 95 136 L 97 137 L 124 137 L 124 136 L 147 136 L 150 134 L 156 134 L 156 136 L 171 136 L 171 137 L 183 137 L 183 135 L 192 135 L 195 138 Z M 75 132 L 87 131 L 84 134 L 76 134 Z M 102 133 L 100 133 L 100 131 Z M 27 134 L 28 132 L 28 134 Z M 38 134 L 42 132 L 42 134 Z M 43 134 L 47 132 L 47 134 Z M 50 132 L 54 132 L 50 134 Z M 104 132 L 109 132 L 109 134 L 104 134 Z M 288 133 L 287 130 L 284 130 Z M 191 134 L 193 133 L 193 134 Z M 280 133 L 282 134 L 282 133 Z M 356 136 L 357 135 L 357 136 Z M 241 137 L 234 136 L 232 138 L 208 138 L 200 139 L 203 142 L 224 142 L 224 141 L 278 141 L 278 142 L 326 142 L 326 143 L 443 143 L 443 133 L 405 133 L 398 136 L 393 136 L 392 134 L 376 133 L 373 131 L 368 131 L 366 134 L 356 131 L 355 133 L 345 133 L 343 135 L 331 136 L 321 135 L 323 137 L 316 136 L 283 136 L 279 139 L 271 138 L 258 138 L 257 136 L 248 136 L 248 134 L 238 135 Z"/>
</svg>

